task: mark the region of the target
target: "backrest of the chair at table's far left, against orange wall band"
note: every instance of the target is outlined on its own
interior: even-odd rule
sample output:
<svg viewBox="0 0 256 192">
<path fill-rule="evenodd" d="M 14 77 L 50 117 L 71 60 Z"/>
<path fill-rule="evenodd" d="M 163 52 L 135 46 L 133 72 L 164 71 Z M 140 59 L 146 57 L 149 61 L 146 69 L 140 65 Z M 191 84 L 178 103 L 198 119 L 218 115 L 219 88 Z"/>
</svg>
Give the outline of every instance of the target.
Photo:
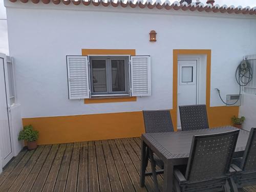
<svg viewBox="0 0 256 192">
<path fill-rule="evenodd" d="M 174 131 L 169 110 L 143 111 L 143 118 L 146 133 Z"/>
</svg>

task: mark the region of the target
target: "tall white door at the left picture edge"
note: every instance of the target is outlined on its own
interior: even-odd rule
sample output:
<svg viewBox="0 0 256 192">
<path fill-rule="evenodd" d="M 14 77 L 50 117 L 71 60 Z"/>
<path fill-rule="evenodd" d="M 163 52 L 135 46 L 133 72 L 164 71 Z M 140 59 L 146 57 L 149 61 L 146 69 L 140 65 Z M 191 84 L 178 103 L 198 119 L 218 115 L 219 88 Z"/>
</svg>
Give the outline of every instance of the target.
<svg viewBox="0 0 256 192">
<path fill-rule="evenodd" d="M 0 55 L 1 56 L 1 55 Z M 11 144 L 11 130 L 9 126 L 9 112 L 7 104 L 7 87 L 5 60 L 0 57 L 0 155 L 2 166 L 5 166 L 13 157 Z M 2 167 L 1 167 L 2 168 Z"/>
</svg>

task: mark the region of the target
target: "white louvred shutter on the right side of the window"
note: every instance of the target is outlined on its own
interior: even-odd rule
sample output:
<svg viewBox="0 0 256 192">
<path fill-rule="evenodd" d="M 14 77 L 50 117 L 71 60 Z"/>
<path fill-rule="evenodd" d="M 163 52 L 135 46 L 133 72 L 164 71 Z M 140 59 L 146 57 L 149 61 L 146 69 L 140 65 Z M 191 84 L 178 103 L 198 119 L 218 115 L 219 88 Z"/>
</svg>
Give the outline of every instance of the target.
<svg viewBox="0 0 256 192">
<path fill-rule="evenodd" d="M 132 96 L 151 96 L 150 56 L 131 56 Z"/>
</svg>

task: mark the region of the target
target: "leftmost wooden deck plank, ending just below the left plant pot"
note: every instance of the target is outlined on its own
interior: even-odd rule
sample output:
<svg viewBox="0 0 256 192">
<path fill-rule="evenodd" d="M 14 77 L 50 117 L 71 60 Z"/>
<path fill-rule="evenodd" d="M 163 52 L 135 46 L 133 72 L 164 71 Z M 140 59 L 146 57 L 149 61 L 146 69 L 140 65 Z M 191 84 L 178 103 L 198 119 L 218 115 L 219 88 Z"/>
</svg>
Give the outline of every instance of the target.
<svg viewBox="0 0 256 192">
<path fill-rule="evenodd" d="M 6 178 L 11 174 L 12 170 L 16 167 L 16 165 L 22 160 L 24 155 L 27 153 L 27 150 L 22 150 L 19 154 L 8 164 L 3 173 L 0 175 L 0 186 L 6 180 Z"/>
</svg>

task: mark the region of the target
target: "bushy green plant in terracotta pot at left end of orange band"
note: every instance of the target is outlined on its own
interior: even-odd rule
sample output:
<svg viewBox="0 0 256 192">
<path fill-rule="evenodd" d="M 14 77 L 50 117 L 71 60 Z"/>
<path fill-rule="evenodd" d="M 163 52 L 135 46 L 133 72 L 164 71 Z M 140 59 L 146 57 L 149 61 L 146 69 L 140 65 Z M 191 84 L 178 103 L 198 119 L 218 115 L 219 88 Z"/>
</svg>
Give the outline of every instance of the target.
<svg viewBox="0 0 256 192">
<path fill-rule="evenodd" d="M 37 147 L 36 140 L 38 139 L 38 131 L 33 130 L 32 125 L 24 126 L 24 129 L 19 132 L 18 140 L 26 140 L 28 149 L 34 150 Z"/>
</svg>

